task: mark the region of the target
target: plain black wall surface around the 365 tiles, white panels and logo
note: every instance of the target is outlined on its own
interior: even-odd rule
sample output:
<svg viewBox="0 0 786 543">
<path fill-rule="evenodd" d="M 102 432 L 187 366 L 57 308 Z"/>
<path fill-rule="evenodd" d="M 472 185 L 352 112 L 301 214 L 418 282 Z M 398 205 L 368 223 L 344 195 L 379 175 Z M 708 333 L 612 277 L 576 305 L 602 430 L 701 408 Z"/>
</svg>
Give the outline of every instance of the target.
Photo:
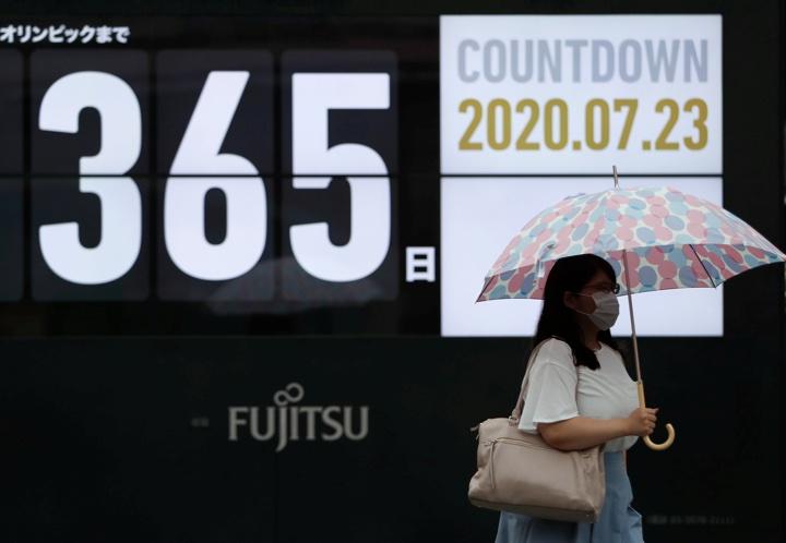
<svg viewBox="0 0 786 543">
<path fill-rule="evenodd" d="M 783 249 L 775 1 L 3 8 L 23 24 L 131 17 L 132 47 L 147 50 L 204 47 L 206 37 L 226 47 L 272 40 L 274 57 L 295 44 L 396 50 L 401 248 L 439 240 L 439 13 L 688 11 L 724 16 L 724 205 Z M 17 132 L 24 173 L 27 130 Z M 19 179 L 7 174 L 3 183 Z M 29 224 L 28 198 L 22 213 Z M 0 305 L 0 541 L 492 541 L 497 514 L 466 500 L 468 427 L 510 410 L 528 338 L 438 337 L 438 285 L 407 285 L 403 269 L 393 301 L 294 313 L 33 302 L 24 233 L 23 300 Z M 19 250 L 15 238 L 5 243 L 3 266 Z M 640 341 L 647 402 L 677 430 L 667 451 L 636 444 L 628 454 L 650 543 L 783 540 L 783 266 L 729 281 L 724 298 L 723 338 Z M 305 388 L 301 405 L 368 406 L 367 438 L 294 442 L 278 454 L 273 443 L 228 441 L 228 406 L 263 410 L 291 382 Z"/>
</svg>

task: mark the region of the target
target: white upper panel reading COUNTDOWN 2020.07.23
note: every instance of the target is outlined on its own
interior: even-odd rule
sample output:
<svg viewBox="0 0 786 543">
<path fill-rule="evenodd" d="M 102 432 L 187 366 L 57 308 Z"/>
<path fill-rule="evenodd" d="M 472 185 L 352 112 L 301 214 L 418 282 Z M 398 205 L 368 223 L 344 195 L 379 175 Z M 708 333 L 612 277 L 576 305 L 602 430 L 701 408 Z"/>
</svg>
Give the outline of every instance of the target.
<svg viewBox="0 0 786 543">
<path fill-rule="evenodd" d="M 720 15 L 440 20 L 443 174 L 722 174 Z"/>
</svg>

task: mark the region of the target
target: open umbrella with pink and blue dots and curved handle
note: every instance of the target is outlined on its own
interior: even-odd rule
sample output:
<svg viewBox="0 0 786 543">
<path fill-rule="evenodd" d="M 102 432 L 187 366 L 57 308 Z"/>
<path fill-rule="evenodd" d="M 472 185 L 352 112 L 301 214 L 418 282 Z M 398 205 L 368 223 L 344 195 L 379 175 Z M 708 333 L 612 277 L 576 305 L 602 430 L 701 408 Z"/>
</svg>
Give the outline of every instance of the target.
<svg viewBox="0 0 786 543">
<path fill-rule="evenodd" d="M 742 272 L 786 262 L 786 255 L 750 225 L 705 200 L 668 186 L 615 189 L 569 196 L 533 217 L 502 251 L 477 301 L 543 299 L 548 272 L 563 256 L 592 253 L 623 278 L 628 294 L 639 403 L 645 407 L 632 293 L 717 287 Z M 668 439 L 651 448 L 663 450 Z"/>
</svg>

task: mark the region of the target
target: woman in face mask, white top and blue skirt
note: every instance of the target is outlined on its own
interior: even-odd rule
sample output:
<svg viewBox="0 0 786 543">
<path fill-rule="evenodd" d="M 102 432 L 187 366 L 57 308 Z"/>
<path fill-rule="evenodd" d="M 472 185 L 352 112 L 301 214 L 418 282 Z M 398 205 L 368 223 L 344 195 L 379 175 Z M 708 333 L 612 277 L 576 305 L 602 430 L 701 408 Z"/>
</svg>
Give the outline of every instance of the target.
<svg viewBox="0 0 786 543">
<path fill-rule="evenodd" d="M 609 328 L 619 314 L 619 285 L 611 265 L 592 254 L 557 261 L 544 289 L 544 306 L 519 429 L 539 433 L 561 450 L 605 443 L 606 499 L 596 522 L 564 522 L 500 514 L 496 543 L 643 543 L 641 515 L 624 451 L 652 434 L 657 409 L 638 408 L 630 378 Z"/>
</svg>

